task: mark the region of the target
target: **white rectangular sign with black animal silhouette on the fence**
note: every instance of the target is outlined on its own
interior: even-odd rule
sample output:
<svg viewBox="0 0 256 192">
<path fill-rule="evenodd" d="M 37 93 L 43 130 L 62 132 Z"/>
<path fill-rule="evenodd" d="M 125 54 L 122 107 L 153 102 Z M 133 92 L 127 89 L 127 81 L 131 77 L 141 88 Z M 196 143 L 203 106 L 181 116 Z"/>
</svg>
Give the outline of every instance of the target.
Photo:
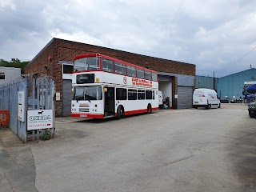
<svg viewBox="0 0 256 192">
<path fill-rule="evenodd" d="M 27 130 L 42 130 L 53 127 L 53 110 L 27 111 Z"/>
</svg>

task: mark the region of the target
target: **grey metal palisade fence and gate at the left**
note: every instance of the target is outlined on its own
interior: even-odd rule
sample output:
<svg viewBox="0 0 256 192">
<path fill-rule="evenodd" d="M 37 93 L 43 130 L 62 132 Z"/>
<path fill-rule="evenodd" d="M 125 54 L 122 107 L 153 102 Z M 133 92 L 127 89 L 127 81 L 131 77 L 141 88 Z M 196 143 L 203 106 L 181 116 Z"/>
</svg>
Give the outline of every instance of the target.
<svg viewBox="0 0 256 192">
<path fill-rule="evenodd" d="M 25 118 L 18 120 L 18 91 L 24 91 Z M 0 110 L 10 112 L 10 130 L 23 142 L 54 136 L 54 128 L 27 130 L 27 110 L 54 110 L 54 80 L 46 75 L 24 75 L 12 82 L 0 85 Z M 54 118 L 55 114 L 53 114 Z"/>
</svg>

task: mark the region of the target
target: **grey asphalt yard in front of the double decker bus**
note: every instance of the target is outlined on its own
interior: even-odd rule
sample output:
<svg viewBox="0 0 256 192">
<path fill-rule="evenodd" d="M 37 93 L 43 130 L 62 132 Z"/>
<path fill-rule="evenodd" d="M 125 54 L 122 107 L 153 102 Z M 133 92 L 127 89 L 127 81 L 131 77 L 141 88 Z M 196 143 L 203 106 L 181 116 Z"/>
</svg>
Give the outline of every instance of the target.
<svg viewBox="0 0 256 192">
<path fill-rule="evenodd" d="M 256 120 L 246 109 L 226 103 L 119 121 L 56 118 L 54 139 L 2 150 L 31 151 L 30 191 L 255 191 Z"/>
</svg>

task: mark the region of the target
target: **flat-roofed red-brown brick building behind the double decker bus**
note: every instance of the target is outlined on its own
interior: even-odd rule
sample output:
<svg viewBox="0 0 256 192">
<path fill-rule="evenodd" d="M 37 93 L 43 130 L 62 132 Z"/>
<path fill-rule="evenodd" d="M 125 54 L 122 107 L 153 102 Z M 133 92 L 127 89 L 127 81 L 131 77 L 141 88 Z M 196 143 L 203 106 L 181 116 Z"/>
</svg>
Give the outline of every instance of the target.
<svg viewBox="0 0 256 192">
<path fill-rule="evenodd" d="M 60 100 L 55 102 L 56 116 L 70 114 L 71 69 L 74 56 L 90 53 L 106 54 L 138 66 L 149 66 L 151 70 L 158 71 L 159 90 L 162 90 L 164 98 L 170 98 L 173 109 L 192 107 L 194 64 L 53 38 L 26 66 L 25 73 L 54 77 L 55 91 L 61 95 Z"/>
</svg>

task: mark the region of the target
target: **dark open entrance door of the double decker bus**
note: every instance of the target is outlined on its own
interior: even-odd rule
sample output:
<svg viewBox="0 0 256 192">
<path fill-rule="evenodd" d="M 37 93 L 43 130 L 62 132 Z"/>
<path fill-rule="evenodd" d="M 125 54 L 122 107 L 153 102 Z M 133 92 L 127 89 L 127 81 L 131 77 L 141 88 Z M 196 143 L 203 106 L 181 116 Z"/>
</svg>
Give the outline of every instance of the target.
<svg viewBox="0 0 256 192">
<path fill-rule="evenodd" d="M 104 116 L 114 115 L 114 87 L 105 86 Z"/>
</svg>

